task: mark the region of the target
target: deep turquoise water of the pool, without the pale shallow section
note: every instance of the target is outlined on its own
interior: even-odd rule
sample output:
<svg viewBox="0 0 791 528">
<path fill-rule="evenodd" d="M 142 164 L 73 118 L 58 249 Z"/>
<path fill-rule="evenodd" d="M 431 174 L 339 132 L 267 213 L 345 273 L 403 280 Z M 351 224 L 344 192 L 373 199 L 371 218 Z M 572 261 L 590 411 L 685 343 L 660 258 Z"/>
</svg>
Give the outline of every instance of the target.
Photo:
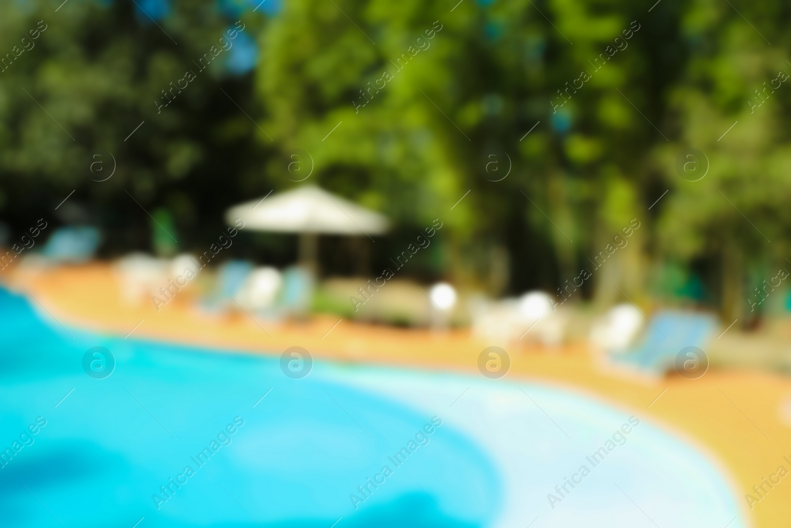
<svg viewBox="0 0 791 528">
<path fill-rule="evenodd" d="M 0 321 L 0 448 L 21 446 L 0 469 L 4 526 L 471 528 L 498 511 L 497 469 L 449 424 L 428 427 L 399 466 L 388 458 L 441 412 L 346 386 L 321 363 L 295 380 L 278 358 L 69 328 L 72 338 L 4 290 Z M 82 370 L 94 346 L 115 355 L 108 378 Z M 381 484 L 354 503 L 369 477 Z"/>
</svg>

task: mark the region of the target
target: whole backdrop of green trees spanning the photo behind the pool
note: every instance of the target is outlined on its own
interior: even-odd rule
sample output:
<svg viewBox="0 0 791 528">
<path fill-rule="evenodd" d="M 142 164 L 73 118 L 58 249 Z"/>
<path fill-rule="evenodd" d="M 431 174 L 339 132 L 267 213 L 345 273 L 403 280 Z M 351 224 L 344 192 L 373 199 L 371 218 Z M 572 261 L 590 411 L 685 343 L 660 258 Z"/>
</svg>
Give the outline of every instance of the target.
<svg viewBox="0 0 791 528">
<path fill-rule="evenodd" d="M 653 260 L 687 266 L 684 277 L 697 263 L 708 287 L 785 259 L 791 83 L 747 103 L 791 71 L 781 2 L 455 4 L 247 8 L 252 74 L 230 76 L 221 57 L 159 112 L 161 90 L 235 22 L 214 2 L 172 2 L 158 25 L 120 0 L 57 13 L 6 2 L 0 51 L 40 20 L 47 29 L 0 73 L 0 214 L 21 223 L 76 188 L 70 200 L 119 235 L 115 250 L 151 241 L 142 208 L 165 211 L 189 248 L 230 203 L 292 186 L 284 160 L 301 149 L 315 163 L 308 183 L 399 230 L 441 218 L 434 273 L 469 283 L 486 282 L 505 247 L 512 291 L 554 291 L 631 218 L 640 256 L 591 283 L 646 287 L 637 268 Z M 708 158 L 702 180 L 676 173 L 687 147 Z M 92 156 L 111 152 L 115 176 L 91 181 Z M 393 248 L 378 242 L 386 260 Z"/>
</svg>

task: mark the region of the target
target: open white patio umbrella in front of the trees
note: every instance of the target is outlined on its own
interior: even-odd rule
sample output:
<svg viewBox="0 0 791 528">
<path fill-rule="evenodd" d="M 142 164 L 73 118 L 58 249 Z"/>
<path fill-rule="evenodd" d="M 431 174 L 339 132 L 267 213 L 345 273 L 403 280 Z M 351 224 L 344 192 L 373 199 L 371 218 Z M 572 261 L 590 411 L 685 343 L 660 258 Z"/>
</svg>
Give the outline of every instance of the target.
<svg viewBox="0 0 791 528">
<path fill-rule="evenodd" d="M 225 221 L 233 225 L 237 218 L 244 229 L 299 234 L 300 261 L 314 270 L 319 234 L 371 237 L 389 227 L 383 215 L 313 185 L 230 207 Z"/>
</svg>

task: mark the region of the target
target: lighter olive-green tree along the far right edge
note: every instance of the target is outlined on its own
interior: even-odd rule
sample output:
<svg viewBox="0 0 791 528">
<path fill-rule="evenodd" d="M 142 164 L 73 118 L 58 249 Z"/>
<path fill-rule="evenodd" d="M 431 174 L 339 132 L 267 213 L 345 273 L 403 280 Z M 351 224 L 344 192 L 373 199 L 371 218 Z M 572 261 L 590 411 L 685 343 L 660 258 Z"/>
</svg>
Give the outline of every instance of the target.
<svg viewBox="0 0 791 528">
<path fill-rule="evenodd" d="M 737 7 L 693 2 L 684 9 L 690 59 L 670 97 L 678 139 L 657 146 L 655 163 L 670 188 L 658 207 L 660 256 L 707 261 L 724 317 L 744 322 L 755 316 L 748 300 L 761 283 L 748 276 L 768 280 L 789 265 L 791 88 L 781 72 L 791 65 L 787 9 L 778 2 Z M 696 160 L 709 166 L 702 180 L 673 170 L 686 147 L 705 153 Z"/>
</svg>

